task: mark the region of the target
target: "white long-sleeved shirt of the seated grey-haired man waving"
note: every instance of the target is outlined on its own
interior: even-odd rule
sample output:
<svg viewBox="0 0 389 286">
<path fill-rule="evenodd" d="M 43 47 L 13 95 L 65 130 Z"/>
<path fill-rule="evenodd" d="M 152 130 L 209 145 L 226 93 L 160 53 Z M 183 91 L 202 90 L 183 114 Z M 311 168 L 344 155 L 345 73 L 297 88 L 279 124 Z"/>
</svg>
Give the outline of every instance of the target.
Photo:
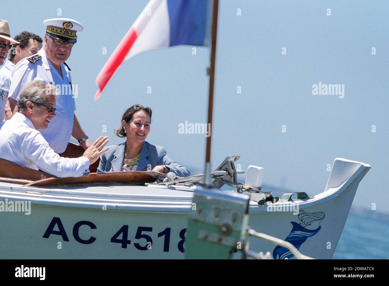
<svg viewBox="0 0 389 286">
<path fill-rule="evenodd" d="M 57 177 L 79 177 L 89 172 L 88 158 L 60 157 L 30 119 L 19 112 L 0 123 L 0 158 Z"/>
</svg>

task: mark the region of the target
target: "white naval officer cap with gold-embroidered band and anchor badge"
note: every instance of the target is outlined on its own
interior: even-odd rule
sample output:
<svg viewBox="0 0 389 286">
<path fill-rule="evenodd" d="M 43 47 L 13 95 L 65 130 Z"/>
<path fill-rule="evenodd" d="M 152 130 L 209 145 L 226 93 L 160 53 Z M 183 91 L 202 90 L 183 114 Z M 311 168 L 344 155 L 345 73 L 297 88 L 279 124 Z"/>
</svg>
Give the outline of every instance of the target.
<svg viewBox="0 0 389 286">
<path fill-rule="evenodd" d="M 75 44 L 77 32 L 84 30 L 84 27 L 77 21 L 68 18 L 54 18 L 43 21 L 46 26 L 46 33 L 52 37 Z"/>
</svg>

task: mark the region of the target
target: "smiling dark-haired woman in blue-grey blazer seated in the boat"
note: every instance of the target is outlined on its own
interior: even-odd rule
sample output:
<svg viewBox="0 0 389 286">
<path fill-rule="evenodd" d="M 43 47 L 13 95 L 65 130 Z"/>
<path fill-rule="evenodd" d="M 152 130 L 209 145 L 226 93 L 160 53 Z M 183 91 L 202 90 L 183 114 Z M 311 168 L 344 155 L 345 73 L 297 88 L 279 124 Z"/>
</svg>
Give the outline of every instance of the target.
<svg viewBox="0 0 389 286">
<path fill-rule="evenodd" d="M 145 139 L 150 132 L 152 111 L 150 107 L 135 104 L 124 112 L 122 125 L 115 133 L 126 137 L 126 142 L 109 146 L 101 155 L 98 173 L 114 171 L 173 172 L 187 177 L 190 172 L 166 155 L 164 147 L 152 145 Z"/>
</svg>

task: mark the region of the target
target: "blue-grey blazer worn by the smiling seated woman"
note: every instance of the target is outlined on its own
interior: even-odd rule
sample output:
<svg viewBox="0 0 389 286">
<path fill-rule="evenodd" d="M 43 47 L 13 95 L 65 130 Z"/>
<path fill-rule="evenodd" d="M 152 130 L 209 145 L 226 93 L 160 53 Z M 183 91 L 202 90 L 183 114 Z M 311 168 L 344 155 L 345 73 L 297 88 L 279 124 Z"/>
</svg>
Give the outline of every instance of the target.
<svg viewBox="0 0 389 286">
<path fill-rule="evenodd" d="M 100 156 L 100 165 L 97 168 L 97 172 L 103 173 L 121 171 L 125 149 L 126 142 L 119 145 L 109 146 L 109 150 Z M 166 156 L 166 150 L 164 147 L 152 145 L 149 142 L 144 141 L 142 151 L 140 151 L 137 170 L 147 171 L 148 164 L 151 164 L 151 168 L 149 168 L 149 170 L 152 170 L 158 165 L 167 165 L 170 168 L 170 172 L 175 173 L 177 176 L 187 177 L 191 175 L 187 168 L 180 166 Z"/>
</svg>

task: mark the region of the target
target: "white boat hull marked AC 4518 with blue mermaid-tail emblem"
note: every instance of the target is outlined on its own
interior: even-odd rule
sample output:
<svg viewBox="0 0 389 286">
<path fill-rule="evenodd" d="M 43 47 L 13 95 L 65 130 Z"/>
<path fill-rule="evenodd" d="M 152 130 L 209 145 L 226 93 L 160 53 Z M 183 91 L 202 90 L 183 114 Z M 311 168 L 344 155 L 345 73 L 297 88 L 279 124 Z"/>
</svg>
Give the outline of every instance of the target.
<svg viewBox="0 0 389 286">
<path fill-rule="evenodd" d="M 297 241 L 300 252 L 307 256 L 331 259 L 358 184 L 370 169 L 370 165 L 359 162 L 352 166 L 341 177 L 335 176 L 334 164 L 333 179 L 330 176 L 326 190 L 308 200 L 271 205 L 251 201 L 249 226 L 257 232 Z M 193 188 L 185 187 L 41 189 L 1 183 L 0 201 L 31 202 L 30 214 L 0 212 L 1 258 L 184 258 L 183 238 L 192 197 Z M 123 237 L 127 229 L 128 236 Z M 270 242 L 248 241 L 253 251 L 270 251 L 274 258 L 288 256 Z M 240 253 L 234 256 L 239 258 Z"/>
</svg>

